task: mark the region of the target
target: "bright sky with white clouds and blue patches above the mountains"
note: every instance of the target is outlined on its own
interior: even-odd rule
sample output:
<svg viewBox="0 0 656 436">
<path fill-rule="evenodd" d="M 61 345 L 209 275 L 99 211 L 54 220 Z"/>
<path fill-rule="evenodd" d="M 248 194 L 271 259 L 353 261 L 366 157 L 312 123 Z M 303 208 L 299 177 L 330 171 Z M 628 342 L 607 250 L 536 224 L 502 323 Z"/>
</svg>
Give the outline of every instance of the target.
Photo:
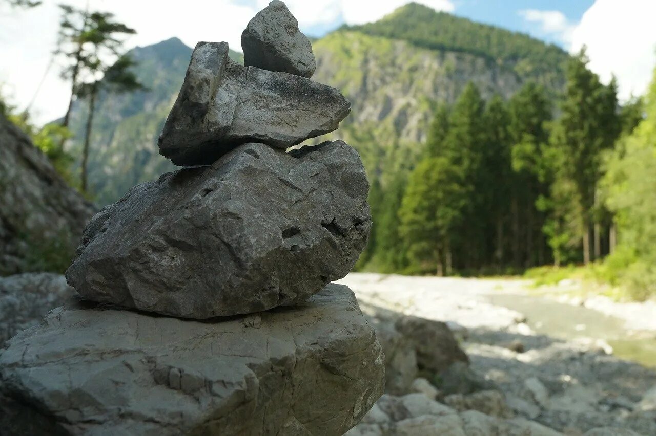
<svg viewBox="0 0 656 436">
<path fill-rule="evenodd" d="M 11 9 L 0 0 L 0 86 L 20 109 L 30 107 L 37 123 L 61 117 L 70 86 L 52 62 L 59 10 L 65 0 L 44 0 L 30 10 Z M 227 41 L 241 50 L 241 31 L 268 0 L 68 0 L 83 8 L 113 12 L 138 32 L 127 47 L 144 46 L 171 37 L 186 45 Z M 307 35 L 321 37 L 342 24 L 382 18 L 406 0 L 287 0 Z M 528 33 L 577 52 L 587 46 L 590 68 L 602 81 L 615 75 L 620 98 L 643 94 L 656 66 L 656 0 L 418 0 L 418 3 Z M 39 86 L 41 84 L 41 86 Z"/>
</svg>

